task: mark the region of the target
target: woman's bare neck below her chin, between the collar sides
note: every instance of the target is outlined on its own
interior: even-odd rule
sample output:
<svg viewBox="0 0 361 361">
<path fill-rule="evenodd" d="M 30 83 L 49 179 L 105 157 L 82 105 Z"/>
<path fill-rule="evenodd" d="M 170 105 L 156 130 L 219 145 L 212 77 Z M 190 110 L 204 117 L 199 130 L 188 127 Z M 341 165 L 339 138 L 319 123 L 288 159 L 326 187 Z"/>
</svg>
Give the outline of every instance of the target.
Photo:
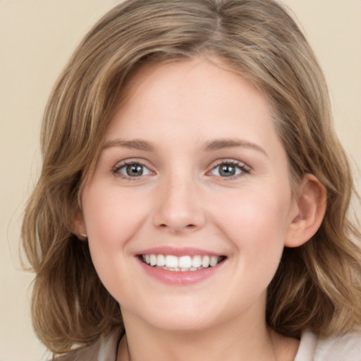
<svg viewBox="0 0 361 361">
<path fill-rule="evenodd" d="M 140 320 L 127 322 L 127 317 L 124 321 L 126 337 L 118 349 L 117 361 L 288 361 L 293 360 L 298 346 L 296 341 L 291 347 L 257 319 L 247 323 L 232 319 L 214 328 L 182 332 L 154 329 Z"/>
</svg>

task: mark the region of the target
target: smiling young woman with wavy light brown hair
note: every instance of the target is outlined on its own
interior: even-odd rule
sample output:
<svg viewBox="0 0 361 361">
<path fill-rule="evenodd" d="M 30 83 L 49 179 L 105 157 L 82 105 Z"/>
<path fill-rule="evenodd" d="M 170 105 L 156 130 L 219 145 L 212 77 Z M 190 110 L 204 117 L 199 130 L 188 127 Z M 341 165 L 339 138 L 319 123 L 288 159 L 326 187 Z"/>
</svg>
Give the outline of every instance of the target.
<svg viewBox="0 0 361 361">
<path fill-rule="evenodd" d="M 117 6 L 54 87 L 42 152 L 23 239 L 64 360 L 361 357 L 352 176 L 280 4 Z"/>
</svg>

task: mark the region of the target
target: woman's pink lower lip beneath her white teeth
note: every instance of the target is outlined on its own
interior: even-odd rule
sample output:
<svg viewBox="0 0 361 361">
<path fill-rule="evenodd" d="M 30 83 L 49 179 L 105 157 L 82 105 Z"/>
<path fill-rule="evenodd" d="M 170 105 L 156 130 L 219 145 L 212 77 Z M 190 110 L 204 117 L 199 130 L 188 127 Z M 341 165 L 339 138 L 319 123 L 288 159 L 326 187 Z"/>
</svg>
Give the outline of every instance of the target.
<svg viewBox="0 0 361 361">
<path fill-rule="evenodd" d="M 149 276 L 152 276 L 157 281 L 176 286 L 185 286 L 193 283 L 198 283 L 209 279 L 221 268 L 223 262 L 220 262 L 214 267 L 207 267 L 199 271 L 169 271 L 168 269 L 161 269 L 149 266 L 139 259 L 140 265 Z"/>
</svg>

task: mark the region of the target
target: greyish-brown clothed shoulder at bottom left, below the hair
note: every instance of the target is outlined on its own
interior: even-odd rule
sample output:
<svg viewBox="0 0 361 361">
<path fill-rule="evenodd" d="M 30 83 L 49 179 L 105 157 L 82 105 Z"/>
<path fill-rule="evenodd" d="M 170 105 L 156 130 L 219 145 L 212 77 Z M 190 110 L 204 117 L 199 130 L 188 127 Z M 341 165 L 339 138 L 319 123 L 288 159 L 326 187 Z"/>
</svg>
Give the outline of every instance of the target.
<svg viewBox="0 0 361 361">
<path fill-rule="evenodd" d="M 107 336 L 99 338 L 92 345 L 56 358 L 56 361 L 115 361 L 120 338 L 121 331 L 116 330 Z"/>
</svg>

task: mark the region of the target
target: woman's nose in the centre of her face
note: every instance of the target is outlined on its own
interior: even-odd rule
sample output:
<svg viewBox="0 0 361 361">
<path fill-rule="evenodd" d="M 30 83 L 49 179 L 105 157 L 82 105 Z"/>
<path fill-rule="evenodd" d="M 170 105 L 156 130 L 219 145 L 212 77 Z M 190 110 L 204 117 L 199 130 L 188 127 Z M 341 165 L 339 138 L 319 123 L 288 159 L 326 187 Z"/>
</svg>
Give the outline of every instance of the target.
<svg viewBox="0 0 361 361">
<path fill-rule="evenodd" d="M 159 185 L 153 223 L 171 233 L 188 233 L 206 221 L 200 190 L 191 178 L 170 177 Z"/>
</svg>

